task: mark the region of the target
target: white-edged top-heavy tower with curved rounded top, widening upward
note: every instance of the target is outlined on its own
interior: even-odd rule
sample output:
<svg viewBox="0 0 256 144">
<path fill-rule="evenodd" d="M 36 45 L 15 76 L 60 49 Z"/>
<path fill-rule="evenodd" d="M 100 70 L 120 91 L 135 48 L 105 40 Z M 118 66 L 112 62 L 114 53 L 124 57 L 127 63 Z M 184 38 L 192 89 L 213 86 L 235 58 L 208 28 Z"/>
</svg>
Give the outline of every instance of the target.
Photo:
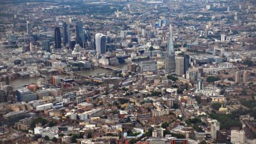
<svg viewBox="0 0 256 144">
<path fill-rule="evenodd" d="M 103 34 L 95 35 L 96 51 L 98 54 L 106 52 L 107 36 Z"/>
</svg>

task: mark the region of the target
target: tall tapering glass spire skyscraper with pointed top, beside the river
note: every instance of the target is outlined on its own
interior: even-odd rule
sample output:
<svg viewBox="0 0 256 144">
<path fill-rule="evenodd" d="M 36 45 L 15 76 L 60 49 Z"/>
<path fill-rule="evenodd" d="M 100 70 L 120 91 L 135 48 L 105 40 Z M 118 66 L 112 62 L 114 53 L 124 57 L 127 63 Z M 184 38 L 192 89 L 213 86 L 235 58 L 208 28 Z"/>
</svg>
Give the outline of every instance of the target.
<svg viewBox="0 0 256 144">
<path fill-rule="evenodd" d="M 167 56 L 166 56 L 166 73 L 175 72 L 175 57 L 174 57 L 174 47 L 173 47 L 173 37 L 172 37 L 172 27 L 170 26 L 170 36 L 167 46 Z"/>
</svg>

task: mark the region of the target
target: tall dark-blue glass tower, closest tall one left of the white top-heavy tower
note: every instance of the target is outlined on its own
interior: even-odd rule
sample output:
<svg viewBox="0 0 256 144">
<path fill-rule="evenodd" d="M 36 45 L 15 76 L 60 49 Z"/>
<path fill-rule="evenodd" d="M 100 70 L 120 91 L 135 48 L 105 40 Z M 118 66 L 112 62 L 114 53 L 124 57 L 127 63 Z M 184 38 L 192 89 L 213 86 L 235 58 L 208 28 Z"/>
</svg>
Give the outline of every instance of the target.
<svg viewBox="0 0 256 144">
<path fill-rule="evenodd" d="M 81 21 L 76 22 L 76 44 L 84 47 L 85 34 L 83 30 L 83 23 Z"/>
</svg>

